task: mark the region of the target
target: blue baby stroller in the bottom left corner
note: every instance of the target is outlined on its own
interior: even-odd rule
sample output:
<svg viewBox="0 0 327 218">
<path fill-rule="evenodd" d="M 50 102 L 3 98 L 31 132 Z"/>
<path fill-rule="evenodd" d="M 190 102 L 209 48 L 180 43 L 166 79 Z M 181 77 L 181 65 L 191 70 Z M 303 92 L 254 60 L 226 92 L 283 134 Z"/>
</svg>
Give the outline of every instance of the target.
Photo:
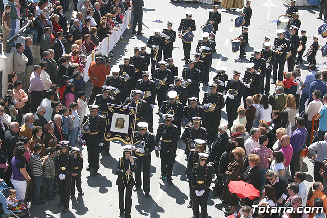
<svg viewBox="0 0 327 218">
<path fill-rule="evenodd" d="M 20 200 L 14 206 L 7 207 L 6 199 L 9 196 L 9 189 L 12 188 L 8 188 L 5 181 L 0 180 L 0 217 L 16 217 L 16 218 L 32 217 L 28 208 L 24 210 L 13 211 L 13 208 L 21 204 L 23 200 Z"/>
</svg>

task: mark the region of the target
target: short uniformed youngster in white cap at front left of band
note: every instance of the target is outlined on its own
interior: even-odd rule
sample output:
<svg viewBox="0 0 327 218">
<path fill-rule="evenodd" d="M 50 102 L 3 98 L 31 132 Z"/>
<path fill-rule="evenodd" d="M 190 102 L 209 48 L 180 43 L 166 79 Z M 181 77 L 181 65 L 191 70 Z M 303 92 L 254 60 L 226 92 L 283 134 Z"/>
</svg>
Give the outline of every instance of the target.
<svg viewBox="0 0 327 218">
<path fill-rule="evenodd" d="M 77 147 L 71 147 L 71 153 L 74 155 L 74 168 L 72 172 L 72 182 L 71 182 L 71 197 L 75 195 L 75 185 L 79 195 L 84 195 L 82 191 L 82 180 L 81 173 L 83 169 L 83 156 L 80 152 L 81 150 Z"/>
</svg>

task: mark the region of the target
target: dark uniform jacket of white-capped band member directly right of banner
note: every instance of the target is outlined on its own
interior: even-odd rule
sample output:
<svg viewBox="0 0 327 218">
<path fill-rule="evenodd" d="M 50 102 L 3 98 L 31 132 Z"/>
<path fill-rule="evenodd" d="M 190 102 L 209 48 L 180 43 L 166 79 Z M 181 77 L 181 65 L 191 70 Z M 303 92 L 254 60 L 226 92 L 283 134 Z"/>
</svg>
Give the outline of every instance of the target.
<svg viewBox="0 0 327 218">
<path fill-rule="evenodd" d="M 144 135 L 141 135 L 138 131 L 134 131 L 134 143 L 138 141 L 145 141 L 144 153 L 135 151 L 135 157 L 139 158 L 150 158 L 151 152 L 154 150 L 154 134 L 147 131 Z"/>
</svg>

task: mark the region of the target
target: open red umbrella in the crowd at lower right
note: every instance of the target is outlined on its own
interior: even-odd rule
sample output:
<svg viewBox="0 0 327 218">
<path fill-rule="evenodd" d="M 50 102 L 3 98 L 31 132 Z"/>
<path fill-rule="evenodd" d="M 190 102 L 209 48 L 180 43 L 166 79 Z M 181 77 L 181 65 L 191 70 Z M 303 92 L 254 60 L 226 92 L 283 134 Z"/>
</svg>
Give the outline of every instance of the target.
<svg viewBox="0 0 327 218">
<path fill-rule="evenodd" d="M 250 183 L 239 181 L 230 181 L 228 184 L 230 193 L 236 193 L 239 198 L 249 198 L 251 200 L 259 197 L 260 191 Z"/>
</svg>

